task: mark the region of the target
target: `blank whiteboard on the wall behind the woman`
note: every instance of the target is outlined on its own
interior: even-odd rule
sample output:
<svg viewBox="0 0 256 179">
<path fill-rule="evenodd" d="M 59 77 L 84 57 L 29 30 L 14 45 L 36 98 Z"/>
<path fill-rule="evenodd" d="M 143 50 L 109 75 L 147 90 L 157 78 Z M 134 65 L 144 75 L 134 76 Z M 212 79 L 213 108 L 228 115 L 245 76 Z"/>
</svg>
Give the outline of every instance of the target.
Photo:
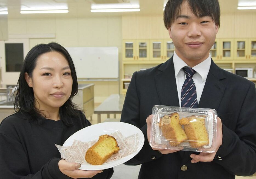
<svg viewBox="0 0 256 179">
<path fill-rule="evenodd" d="M 77 78 L 118 78 L 118 47 L 67 47 Z"/>
</svg>

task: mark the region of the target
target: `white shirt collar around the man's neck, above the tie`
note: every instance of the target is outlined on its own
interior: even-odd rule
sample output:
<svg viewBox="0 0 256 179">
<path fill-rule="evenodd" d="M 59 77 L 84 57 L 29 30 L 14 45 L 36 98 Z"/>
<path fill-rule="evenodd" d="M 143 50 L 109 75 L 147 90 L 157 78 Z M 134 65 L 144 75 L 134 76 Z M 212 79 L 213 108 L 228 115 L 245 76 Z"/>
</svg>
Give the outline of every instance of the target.
<svg viewBox="0 0 256 179">
<path fill-rule="evenodd" d="M 174 51 L 173 54 L 173 65 L 175 71 L 175 77 L 177 77 L 178 73 L 183 67 L 187 67 L 188 65 L 176 54 Z M 204 82 L 207 78 L 211 66 L 211 54 L 201 63 L 194 66 L 193 69 L 201 76 L 202 82 Z"/>
</svg>

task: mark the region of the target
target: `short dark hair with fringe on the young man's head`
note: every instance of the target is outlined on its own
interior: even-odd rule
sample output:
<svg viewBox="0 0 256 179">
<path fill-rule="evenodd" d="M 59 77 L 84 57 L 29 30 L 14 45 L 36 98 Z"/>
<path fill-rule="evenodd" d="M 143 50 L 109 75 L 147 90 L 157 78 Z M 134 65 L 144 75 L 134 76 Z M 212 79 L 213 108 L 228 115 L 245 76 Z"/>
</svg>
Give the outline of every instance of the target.
<svg viewBox="0 0 256 179">
<path fill-rule="evenodd" d="M 220 27 L 220 4 L 218 0 L 169 0 L 164 8 L 164 26 L 169 29 L 181 12 L 183 1 L 187 1 L 197 17 L 210 16 Z"/>
</svg>

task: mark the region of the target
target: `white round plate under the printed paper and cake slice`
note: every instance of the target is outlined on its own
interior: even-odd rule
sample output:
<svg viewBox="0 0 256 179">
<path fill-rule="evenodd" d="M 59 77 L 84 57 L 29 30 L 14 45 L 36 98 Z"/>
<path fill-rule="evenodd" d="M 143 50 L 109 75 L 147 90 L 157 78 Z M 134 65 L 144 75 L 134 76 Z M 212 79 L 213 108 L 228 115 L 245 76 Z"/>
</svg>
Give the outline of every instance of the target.
<svg viewBox="0 0 256 179">
<path fill-rule="evenodd" d="M 103 163 L 102 165 L 82 164 L 79 169 L 81 169 L 81 170 L 104 170 L 104 169 L 112 168 L 114 166 L 120 165 L 120 164 L 130 160 L 132 157 L 134 157 L 136 154 L 139 153 L 139 151 L 141 150 L 141 148 L 143 147 L 143 144 L 144 144 L 144 135 L 139 128 L 137 128 L 131 124 L 124 123 L 124 122 L 99 123 L 99 124 L 88 126 L 86 128 L 83 128 L 83 129 L 77 131 L 75 134 L 71 135 L 66 140 L 66 142 L 63 144 L 63 146 L 71 146 L 73 144 L 74 140 L 79 140 L 81 142 L 89 142 L 89 141 L 92 141 L 95 139 L 98 140 L 100 135 L 111 134 L 116 131 L 120 131 L 124 137 L 128 137 L 129 135 L 138 133 L 139 134 L 138 150 L 126 157 L 119 159 L 119 160 L 111 161 L 108 163 Z"/>
</svg>

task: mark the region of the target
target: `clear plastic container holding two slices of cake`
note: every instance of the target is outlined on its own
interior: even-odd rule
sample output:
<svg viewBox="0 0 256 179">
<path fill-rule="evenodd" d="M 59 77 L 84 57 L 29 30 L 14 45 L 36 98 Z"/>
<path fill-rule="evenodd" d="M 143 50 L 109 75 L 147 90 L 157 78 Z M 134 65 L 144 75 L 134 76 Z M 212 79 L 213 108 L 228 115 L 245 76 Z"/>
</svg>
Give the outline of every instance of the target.
<svg viewBox="0 0 256 179">
<path fill-rule="evenodd" d="M 213 153 L 216 149 L 215 109 L 155 105 L 149 144 L 152 148 Z"/>
</svg>

